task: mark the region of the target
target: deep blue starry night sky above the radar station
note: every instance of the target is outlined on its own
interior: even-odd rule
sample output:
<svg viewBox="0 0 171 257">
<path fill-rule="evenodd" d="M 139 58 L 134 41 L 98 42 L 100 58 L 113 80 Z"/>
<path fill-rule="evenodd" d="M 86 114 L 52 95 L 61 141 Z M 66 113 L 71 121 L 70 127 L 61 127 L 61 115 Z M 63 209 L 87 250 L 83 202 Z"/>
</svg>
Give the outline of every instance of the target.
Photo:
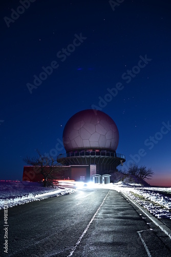
<svg viewBox="0 0 171 257">
<path fill-rule="evenodd" d="M 0 5 L 0 178 L 22 180 L 35 149 L 65 153 L 68 119 L 95 108 L 117 124 L 118 168 L 134 159 L 171 187 L 170 1 Z"/>
</svg>

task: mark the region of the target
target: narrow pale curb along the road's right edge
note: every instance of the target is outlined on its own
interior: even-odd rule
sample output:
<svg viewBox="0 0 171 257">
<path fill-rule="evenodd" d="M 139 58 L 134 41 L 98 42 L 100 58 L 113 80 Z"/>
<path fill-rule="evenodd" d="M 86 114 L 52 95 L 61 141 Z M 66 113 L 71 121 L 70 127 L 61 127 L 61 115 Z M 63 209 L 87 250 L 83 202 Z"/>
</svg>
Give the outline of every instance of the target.
<svg viewBox="0 0 171 257">
<path fill-rule="evenodd" d="M 169 229 L 166 225 L 164 225 L 159 219 L 154 217 L 151 213 L 149 213 L 146 209 L 140 206 L 135 200 L 131 199 L 131 197 L 122 191 L 120 193 L 123 195 L 124 198 L 129 199 L 136 207 L 138 207 L 151 221 L 158 226 L 170 239 L 171 239 L 171 229 Z"/>
</svg>

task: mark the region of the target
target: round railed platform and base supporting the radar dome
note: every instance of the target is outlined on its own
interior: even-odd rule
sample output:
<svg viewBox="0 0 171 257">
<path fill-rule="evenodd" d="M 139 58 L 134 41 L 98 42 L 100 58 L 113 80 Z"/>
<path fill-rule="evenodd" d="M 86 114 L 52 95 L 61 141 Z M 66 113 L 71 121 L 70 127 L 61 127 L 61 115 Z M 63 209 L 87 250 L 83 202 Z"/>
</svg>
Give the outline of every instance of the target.
<svg viewBox="0 0 171 257">
<path fill-rule="evenodd" d="M 95 174 L 109 174 L 125 162 L 123 154 L 103 151 L 81 151 L 57 156 L 57 162 L 70 166 L 70 178 L 88 182 Z"/>
</svg>

